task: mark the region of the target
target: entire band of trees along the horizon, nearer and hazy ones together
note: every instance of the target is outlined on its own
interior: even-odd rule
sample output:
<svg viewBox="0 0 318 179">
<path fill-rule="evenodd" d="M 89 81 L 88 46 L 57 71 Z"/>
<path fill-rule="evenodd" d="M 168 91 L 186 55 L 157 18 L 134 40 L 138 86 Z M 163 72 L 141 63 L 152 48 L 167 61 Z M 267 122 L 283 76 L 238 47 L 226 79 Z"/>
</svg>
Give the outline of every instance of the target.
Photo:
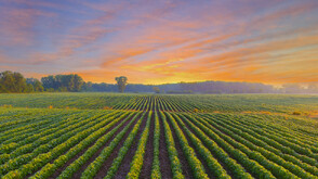
<svg viewBox="0 0 318 179">
<path fill-rule="evenodd" d="M 260 82 L 178 82 L 164 85 L 128 84 L 125 76 L 116 77 L 117 84 L 84 81 L 77 74 L 24 78 L 17 72 L 0 73 L 0 93 L 28 92 L 155 92 L 155 93 L 318 93 L 318 84 L 307 87 L 286 84 L 281 88 Z"/>
</svg>

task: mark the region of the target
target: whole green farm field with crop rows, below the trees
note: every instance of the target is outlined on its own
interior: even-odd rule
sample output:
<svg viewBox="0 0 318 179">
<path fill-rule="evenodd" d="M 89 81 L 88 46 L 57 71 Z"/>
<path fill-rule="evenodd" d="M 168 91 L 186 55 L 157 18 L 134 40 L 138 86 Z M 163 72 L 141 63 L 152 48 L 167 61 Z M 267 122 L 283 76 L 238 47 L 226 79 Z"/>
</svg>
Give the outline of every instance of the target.
<svg viewBox="0 0 318 179">
<path fill-rule="evenodd" d="M 0 94 L 0 178 L 318 178 L 318 95 Z"/>
</svg>

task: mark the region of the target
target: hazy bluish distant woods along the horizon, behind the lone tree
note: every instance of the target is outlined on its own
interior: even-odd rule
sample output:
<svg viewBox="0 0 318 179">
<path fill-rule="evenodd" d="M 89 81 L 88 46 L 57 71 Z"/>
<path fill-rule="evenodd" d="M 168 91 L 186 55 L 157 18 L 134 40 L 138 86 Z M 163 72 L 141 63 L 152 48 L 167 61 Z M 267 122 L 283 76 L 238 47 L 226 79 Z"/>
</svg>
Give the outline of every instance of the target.
<svg viewBox="0 0 318 179">
<path fill-rule="evenodd" d="M 82 91 L 87 92 L 117 92 L 118 85 L 84 82 Z M 203 82 L 178 82 L 164 85 L 142 85 L 128 84 L 125 92 L 141 93 L 171 93 L 171 94 L 190 94 L 190 93 L 318 93 L 318 84 L 312 84 L 306 88 L 297 84 L 286 84 L 280 88 L 260 82 L 228 82 L 228 81 L 203 81 Z"/>
</svg>

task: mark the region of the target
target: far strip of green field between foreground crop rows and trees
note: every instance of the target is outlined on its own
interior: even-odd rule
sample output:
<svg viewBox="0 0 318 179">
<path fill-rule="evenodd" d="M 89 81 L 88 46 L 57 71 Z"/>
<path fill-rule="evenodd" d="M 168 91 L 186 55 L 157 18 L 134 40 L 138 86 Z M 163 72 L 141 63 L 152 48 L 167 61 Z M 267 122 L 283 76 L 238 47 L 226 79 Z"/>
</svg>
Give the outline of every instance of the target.
<svg viewBox="0 0 318 179">
<path fill-rule="evenodd" d="M 292 100 L 291 100 L 292 99 Z M 151 104 L 153 103 L 153 104 Z M 57 108 L 104 108 L 147 111 L 150 106 L 170 112 L 220 112 L 220 113 L 284 113 L 294 111 L 309 113 L 318 106 L 318 95 L 274 95 L 274 94 L 237 94 L 237 95 L 148 95 L 119 93 L 30 93 L 30 94 L 0 94 L 0 104 L 12 104 L 21 107 Z M 197 110 L 195 110 L 197 111 Z"/>
</svg>

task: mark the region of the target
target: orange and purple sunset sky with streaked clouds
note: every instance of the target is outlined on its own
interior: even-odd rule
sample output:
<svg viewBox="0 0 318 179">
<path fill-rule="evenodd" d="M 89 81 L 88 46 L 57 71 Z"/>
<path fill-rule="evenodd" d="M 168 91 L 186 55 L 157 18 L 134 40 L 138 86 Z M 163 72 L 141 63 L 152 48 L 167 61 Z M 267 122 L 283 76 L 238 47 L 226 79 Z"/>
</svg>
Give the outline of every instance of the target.
<svg viewBox="0 0 318 179">
<path fill-rule="evenodd" d="M 0 72 L 318 81 L 318 0 L 0 0 Z"/>
</svg>

